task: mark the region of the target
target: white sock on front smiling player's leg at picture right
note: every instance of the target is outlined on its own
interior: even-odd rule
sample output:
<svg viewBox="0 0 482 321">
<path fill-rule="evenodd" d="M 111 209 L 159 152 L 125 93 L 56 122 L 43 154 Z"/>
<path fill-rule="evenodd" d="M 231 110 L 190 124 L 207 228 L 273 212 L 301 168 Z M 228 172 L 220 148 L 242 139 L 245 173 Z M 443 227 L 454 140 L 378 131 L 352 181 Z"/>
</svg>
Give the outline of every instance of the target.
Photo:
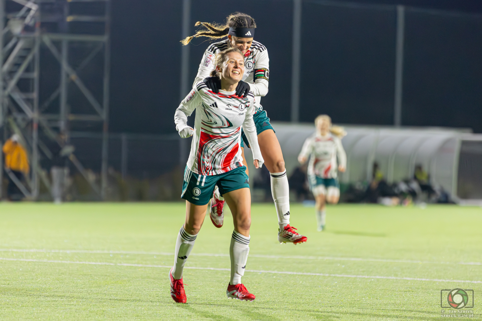
<svg viewBox="0 0 482 321">
<path fill-rule="evenodd" d="M 229 245 L 229 257 L 231 258 L 231 280 L 229 284 L 235 285 L 241 283 L 241 276 L 244 275 L 244 268 L 248 261 L 249 240 L 250 237 L 241 235 L 237 231 L 233 231 L 231 244 Z"/>
</svg>

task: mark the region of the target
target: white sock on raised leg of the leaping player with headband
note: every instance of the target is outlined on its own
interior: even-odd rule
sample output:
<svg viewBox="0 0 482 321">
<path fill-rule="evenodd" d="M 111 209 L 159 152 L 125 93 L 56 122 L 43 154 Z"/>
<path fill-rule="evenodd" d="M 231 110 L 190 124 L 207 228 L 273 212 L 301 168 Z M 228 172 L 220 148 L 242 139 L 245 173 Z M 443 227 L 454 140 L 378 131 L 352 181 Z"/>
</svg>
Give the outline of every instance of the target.
<svg viewBox="0 0 482 321">
<path fill-rule="evenodd" d="M 290 223 L 290 187 L 286 177 L 286 169 L 282 173 L 269 173 L 271 178 L 271 195 L 273 196 L 280 231 Z"/>
</svg>

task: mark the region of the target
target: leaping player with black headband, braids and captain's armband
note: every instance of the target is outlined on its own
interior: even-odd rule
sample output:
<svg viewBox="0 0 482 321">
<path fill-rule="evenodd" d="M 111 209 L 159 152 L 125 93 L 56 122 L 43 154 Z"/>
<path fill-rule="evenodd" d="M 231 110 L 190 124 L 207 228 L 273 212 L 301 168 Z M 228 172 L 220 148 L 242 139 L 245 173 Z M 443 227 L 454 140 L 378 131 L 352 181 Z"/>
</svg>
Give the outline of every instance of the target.
<svg viewBox="0 0 482 321">
<path fill-rule="evenodd" d="M 204 52 L 201 64 L 199 65 L 198 75 L 194 83 L 204 81 L 206 86 L 217 92 L 219 82 L 217 78 L 209 77 L 214 69 L 213 58 L 216 53 L 227 48 L 237 48 L 244 55 L 244 74 L 243 80 L 236 87 L 236 94 L 246 97 L 249 90 L 256 96 L 254 107 L 254 124 L 258 135 L 261 154 L 265 159 L 265 165 L 271 176 L 271 194 L 273 196 L 276 213 L 278 214 L 279 232 L 278 241 L 280 243 L 304 243 L 307 237 L 295 232 L 295 228 L 290 226 L 290 197 L 288 178 L 284 168 L 283 154 L 281 146 L 276 138 L 274 129 L 269 123 L 266 111 L 260 104 L 261 96 L 268 93 L 269 79 L 269 58 L 266 47 L 261 43 L 254 41 L 254 29 L 256 24 L 254 19 L 244 13 L 233 13 L 226 19 L 226 25 L 216 25 L 207 22 L 197 22 L 196 26 L 202 25 L 207 30 L 198 31 L 194 36 L 187 37 L 182 41 L 187 45 L 194 37 L 208 37 L 210 39 L 221 39 L 228 37 L 220 42 L 216 42 L 208 47 Z M 248 143 L 243 135 L 243 140 Z M 250 145 L 248 145 L 250 147 Z M 243 142 L 241 142 L 243 148 Z M 243 162 L 244 149 L 242 149 Z M 223 226 L 223 205 L 224 199 L 219 191 L 214 191 L 214 197 L 210 206 L 210 217 L 216 227 Z"/>
</svg>

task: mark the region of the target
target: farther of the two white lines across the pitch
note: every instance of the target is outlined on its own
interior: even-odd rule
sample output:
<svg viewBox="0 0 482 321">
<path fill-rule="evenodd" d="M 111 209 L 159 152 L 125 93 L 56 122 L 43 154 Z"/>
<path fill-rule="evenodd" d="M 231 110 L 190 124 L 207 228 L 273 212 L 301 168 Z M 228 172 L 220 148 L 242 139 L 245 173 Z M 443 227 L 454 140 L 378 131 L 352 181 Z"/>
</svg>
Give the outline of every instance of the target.
<svg viewBox="0 0 482 321">
<path fill-rule="evenodd" d="M 166 255 L 172 256 L 174 253 L 167 252 L 144 252 L 144 251 L 106 251 L 106 250 L 46 250 L 46 249 L 0 249 L 0 252 L 42 252 L 42 253 L 100 253 L 100 254 L 144 254 L 144 255 Z M 191 253 L 198 257 L 229 257 L 226 253 Z M 362 258 L 362 257 L 312 257 L 312 256 L 282 256 L 282 255 L 263 255 L 251 254 L 250 257 L 261 258 L 290 258 L 290 259 L 309 259 L 309 260 L 337 260 L 337 261 L 361 261 L 361 262 L 388 262 L 388 263 L 424 263 L 424 264 L 461 264 L 461 265 L 480 265 L 482 262 L 431 262 L 416 260 L 401 260 L 389 258 Z"/>
</svg>

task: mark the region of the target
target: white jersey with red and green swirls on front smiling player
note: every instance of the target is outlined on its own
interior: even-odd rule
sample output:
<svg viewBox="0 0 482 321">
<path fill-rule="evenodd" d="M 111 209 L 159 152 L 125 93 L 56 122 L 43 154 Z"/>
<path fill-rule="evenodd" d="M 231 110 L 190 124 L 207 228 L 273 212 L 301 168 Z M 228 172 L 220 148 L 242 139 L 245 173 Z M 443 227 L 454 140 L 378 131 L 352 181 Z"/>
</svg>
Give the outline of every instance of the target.
<svg viewBox="0 0 482 321">
<path fill-rule="evenodd" d="M 194 134 L 187 167 L 196 174 L 218 175 L 243 166 L 241 126 L 252 146 L 253 158 L 263 164 L 253 113 L 254 95 L 240 98 L 235 91 L 211 91 L 199 82 L 177 107 L 174 122 L 178 131 L 189 127 L 187 116 L 196 109 Z"/>
</svg>

